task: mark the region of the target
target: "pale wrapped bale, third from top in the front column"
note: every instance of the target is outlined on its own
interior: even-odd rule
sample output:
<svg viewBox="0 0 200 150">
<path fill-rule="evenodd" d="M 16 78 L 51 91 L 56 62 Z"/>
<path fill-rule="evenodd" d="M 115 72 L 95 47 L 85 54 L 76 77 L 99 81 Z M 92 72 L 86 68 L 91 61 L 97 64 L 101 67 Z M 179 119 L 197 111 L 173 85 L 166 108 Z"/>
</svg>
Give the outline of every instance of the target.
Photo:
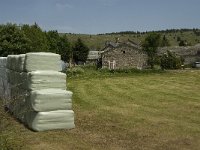
<svg viewBox="0 0 200 150">
<path fill-rule="evenodd" d="M 34 111 L 72 109 L 72 92 L 60 89 L 43 89 L 31 91 L 26 98 L 27 106 Z"/>
</svg>

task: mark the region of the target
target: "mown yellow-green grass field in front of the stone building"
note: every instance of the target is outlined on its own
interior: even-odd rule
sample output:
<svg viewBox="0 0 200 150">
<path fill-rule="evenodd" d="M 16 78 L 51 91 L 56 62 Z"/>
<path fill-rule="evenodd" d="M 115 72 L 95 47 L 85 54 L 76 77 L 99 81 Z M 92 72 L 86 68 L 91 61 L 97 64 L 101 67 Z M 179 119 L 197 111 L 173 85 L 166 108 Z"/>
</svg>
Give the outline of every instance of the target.
<svg viewBox="0 0 200 150">
<path fill-rule="evenodd" d="M 33 132 L 1 109 L 0 144 L 24 150 L 197 150 L 199 83 L 200 70 L 69 78 L 75 129 Z"/>
</svg>

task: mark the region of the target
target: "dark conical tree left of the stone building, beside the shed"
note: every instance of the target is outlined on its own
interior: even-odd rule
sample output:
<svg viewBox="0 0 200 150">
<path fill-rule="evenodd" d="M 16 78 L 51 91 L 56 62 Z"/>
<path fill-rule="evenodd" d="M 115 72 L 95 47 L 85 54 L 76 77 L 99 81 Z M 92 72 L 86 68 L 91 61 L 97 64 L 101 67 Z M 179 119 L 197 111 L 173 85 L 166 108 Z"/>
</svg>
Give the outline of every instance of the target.
<svg viewBox="0 0 200 150">
<path fill-rule="evenodd" d="M 89 48 L 78 38 L 73 47 L 73 59 L 76 63 L 79 61 L 86 62 L 89 53 Z"/>
</svg>

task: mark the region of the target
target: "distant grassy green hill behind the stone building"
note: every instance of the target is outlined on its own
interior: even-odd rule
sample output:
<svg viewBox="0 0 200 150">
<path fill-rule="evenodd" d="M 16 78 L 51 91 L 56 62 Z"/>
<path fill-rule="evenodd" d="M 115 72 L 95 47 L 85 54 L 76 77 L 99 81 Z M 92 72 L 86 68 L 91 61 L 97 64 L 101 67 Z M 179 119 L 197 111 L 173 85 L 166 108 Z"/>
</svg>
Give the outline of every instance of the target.
<svg viewBox="0 0 200 150">
<path fill-rule="evenodd" d="M 161 38 L 165 35 L 171 46 L 178 46 L 180 40 L 186 41 L 191 46 L 200 43 L 200 29 L 170 29 L 150 32 L 160 33 Z M 101 50 L 106 41 L 115 42 L 117 38 L 121 42 L 131 40 L 139 44 L 150 32 L 123 31 L 97 35 L 60 33 L 60 35 L 66 34 L 70 42 L 81 38 L 91 50 Z"/>
</svg>

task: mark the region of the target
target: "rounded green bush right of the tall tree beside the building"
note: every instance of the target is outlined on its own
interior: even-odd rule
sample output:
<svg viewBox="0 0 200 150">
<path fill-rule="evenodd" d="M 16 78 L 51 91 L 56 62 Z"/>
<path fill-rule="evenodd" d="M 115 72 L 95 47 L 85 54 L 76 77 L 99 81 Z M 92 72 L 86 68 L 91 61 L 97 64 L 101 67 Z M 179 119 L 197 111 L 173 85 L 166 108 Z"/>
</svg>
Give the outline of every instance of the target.
<svg viewBox="0 0 200 150">
<path fill-rule="evenodd" d="M 167 51 L 167 53 L 161 56 L 162 69 L 180 69 L 183 62 L 184 60 L 182 57 L 170 51 Z"/>
</svg>

